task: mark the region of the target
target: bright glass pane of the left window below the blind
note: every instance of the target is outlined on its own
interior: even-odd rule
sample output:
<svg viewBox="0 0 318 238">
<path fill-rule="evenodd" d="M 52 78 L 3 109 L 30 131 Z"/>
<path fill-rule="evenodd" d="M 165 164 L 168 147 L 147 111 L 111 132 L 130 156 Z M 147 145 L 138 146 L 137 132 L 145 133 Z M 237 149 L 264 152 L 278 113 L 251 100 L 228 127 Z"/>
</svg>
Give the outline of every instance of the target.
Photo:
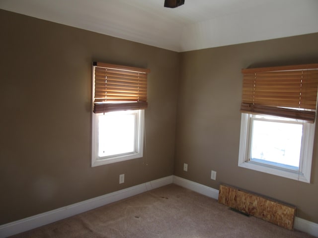
<svg viewBox="0 0 318 238">
<path fill-rule="evenodd" d="M 112 112 L 99 116 L 98 156 L 135 151 L 136 113 Z"/>
</svg>

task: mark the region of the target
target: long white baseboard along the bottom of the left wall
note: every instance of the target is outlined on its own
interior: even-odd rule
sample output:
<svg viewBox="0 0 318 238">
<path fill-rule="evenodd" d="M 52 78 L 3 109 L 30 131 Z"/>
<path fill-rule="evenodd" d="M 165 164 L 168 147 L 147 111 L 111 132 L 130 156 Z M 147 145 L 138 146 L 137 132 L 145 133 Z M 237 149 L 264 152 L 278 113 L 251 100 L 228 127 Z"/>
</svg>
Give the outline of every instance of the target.
<svg viewBox="0 0 318 238">
<path fill-rule="evenodd" d="M 125 188 L 0 226 L 0 238 L 13 236 L 173 182 L 173 176 Z"/>
</svg>

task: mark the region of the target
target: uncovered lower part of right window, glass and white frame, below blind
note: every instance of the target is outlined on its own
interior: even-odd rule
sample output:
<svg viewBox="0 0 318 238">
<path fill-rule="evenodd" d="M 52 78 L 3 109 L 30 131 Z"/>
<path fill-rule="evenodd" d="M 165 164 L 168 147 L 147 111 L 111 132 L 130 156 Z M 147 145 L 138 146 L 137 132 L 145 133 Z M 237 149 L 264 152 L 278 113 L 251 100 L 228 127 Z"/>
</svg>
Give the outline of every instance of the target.
<svg viewBox="0 0 318 238">
<path fill-rule="evenodd" d="M 315 123 L 242 113 L 239 167 L 310 182 Z"/>
</svg>

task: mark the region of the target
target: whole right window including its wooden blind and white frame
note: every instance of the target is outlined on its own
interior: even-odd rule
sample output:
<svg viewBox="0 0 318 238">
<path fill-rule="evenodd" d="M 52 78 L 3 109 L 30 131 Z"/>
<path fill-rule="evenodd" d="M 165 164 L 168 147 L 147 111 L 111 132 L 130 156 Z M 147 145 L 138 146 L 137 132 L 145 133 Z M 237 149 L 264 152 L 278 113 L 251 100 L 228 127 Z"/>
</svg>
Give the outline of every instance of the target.
<svg viewBox="0 0 318 238">
<path fill-rule="evenodd" d="M 317 67 L 242 70 L 239 167 L 310 182 Z"/>
</svg>

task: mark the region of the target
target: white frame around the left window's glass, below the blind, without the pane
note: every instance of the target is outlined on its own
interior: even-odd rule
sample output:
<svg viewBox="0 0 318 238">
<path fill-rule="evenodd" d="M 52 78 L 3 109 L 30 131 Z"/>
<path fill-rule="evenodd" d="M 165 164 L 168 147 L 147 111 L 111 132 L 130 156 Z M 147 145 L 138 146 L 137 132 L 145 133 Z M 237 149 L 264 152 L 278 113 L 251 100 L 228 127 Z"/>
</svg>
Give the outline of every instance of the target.
<svg viewBox="0 0 318 238">
<path fill-rule="evenodd" d="M 99 114 L 92 114 L 92 154 L 91 154 L 91 166 L 100 166 L 120 161 L 126 161 L 143 157 L 144 151 L 144 127 L 145 127 L 145 110 L 134 110 L 132 112 L 137 113 L 135 124 L 135 151 L 131 153 L 123 153 L 112 156 L 99 157 L 98 156 L 98 116 Z"/>
</svg>

